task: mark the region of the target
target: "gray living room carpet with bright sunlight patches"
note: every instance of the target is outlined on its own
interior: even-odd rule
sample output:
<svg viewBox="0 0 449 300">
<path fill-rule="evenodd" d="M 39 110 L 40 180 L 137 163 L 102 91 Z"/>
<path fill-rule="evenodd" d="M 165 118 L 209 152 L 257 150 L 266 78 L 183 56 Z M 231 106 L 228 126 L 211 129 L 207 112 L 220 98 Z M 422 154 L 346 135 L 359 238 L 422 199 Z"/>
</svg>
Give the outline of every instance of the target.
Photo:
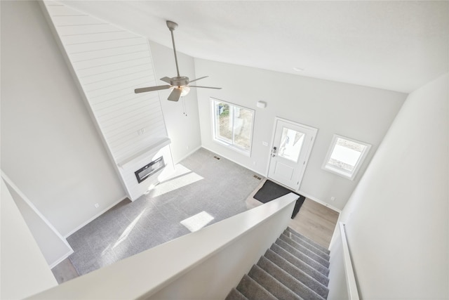
<svg viewBox="0 0 449 300">
<path fill-rule="evenodd" d="M 246 211 L 246 198 L 260 180 L 253 171 L 214 156 L 201 148 L 180 162 L 177 176 L 149 195 L 117 204 L 70 235 L 74 254 L 69 259 L 79 275 L 190 233 L 188 228 Z"/>
</svg>

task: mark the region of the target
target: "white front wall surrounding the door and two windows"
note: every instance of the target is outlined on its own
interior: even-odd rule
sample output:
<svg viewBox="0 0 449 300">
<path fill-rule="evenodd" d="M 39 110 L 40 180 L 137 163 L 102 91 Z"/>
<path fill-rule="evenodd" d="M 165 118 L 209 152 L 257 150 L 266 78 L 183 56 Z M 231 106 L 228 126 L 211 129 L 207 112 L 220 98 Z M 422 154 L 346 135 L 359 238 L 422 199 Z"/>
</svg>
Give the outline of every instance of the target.
<svg viewBox="0 0 449 300">
<path fill-rule="evenodd" d="M 195 59 L 196 76 L 210 75 L 198 89 L 201 141 L 205 148 L 266 175 L 274 117 L 283 117 L 319 129 L 300 193 L 342 209 L 387 132 L 406 94 L 335 81 L 300 77 L 267 70 Z M 255 109 L 251 157 L 240 155 L 212 138 L 210 100 L 215 97 Z M 267 108 L 256 107 L 257 100 Z M 321 169 L 334 133 L 373 145 L 354 181 Z M 335 202 L 330 200 L 335 197 Z"/>
</svg>

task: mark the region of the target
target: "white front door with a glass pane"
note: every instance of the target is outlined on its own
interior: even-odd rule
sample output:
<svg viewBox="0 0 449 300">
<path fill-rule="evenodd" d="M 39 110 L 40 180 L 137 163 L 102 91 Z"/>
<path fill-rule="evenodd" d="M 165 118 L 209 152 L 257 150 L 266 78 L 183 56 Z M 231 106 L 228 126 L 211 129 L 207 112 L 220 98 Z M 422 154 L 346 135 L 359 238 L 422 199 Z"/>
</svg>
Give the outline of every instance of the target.
<svg viewBox="0 0 449 300">
<path fill-rule="evenodd" d="M 309 126 L 276 118 L 268 178 L 298 190 L 316 131 Z"/>
</svg>

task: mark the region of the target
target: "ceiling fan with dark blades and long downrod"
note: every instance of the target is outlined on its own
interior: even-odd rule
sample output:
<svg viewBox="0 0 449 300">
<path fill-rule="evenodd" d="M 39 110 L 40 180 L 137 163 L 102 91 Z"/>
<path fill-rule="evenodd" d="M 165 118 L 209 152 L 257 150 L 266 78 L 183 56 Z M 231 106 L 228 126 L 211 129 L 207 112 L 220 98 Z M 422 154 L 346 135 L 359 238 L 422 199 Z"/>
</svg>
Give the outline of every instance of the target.
<svg viewBox="0 0 449 300">
<path fill-rule="evenodd" d="M 176 48 L 175 48 L 175 37 L 173 36 L 173 30 L 176 29 L 177 24 L 172 21 L 167 21 L 167 27 L 171 32 L 171 41 L 173 42 L 173 52 L 175 53 L 175 63 L 176 63 L 176 71 L 177 71 L 177 77 L 163 77 L 161 78 L 162 81 L 165 81 L 166 85 L 163 86 L 149 86 L 147 88 L 140 88 L 135 89 L 134 93 L 145 93 L 147 91 L 159 91 L 163 89 L 171 89 L 173 88 L 173 91 L 171 91 L 170 95 L 168 96 L 168 100 L 170 101 L 177 101 L 180 100 L 181 96 L 187 95 L 189 93 L 190 88 L 205 88 L 205 89 L 221 89 L 221 88 L 213 88 L 210 86 L 190 86 L 189 84 L 193 81 L 197 81 L 199 79 L 206 78 L 200 77 L 194 80 L 189 80 L 189 77 L 180 76 L 180 70 L 177 67 L 177 56 L 176 56 Z"/>
</svg>

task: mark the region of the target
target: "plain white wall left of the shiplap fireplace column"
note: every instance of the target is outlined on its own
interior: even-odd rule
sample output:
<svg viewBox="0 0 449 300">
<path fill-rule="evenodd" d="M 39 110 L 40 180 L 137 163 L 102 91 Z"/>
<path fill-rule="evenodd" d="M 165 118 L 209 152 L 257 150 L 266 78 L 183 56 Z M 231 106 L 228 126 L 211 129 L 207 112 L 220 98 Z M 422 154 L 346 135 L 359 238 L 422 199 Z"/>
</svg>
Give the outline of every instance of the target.
<svg viewBox="0 0 449 300">
<path fill-rule="evenodd" d="M 125 195 L 36 1 L 1 1 L 1 168 L 62 235 Z"/>
</svg>

